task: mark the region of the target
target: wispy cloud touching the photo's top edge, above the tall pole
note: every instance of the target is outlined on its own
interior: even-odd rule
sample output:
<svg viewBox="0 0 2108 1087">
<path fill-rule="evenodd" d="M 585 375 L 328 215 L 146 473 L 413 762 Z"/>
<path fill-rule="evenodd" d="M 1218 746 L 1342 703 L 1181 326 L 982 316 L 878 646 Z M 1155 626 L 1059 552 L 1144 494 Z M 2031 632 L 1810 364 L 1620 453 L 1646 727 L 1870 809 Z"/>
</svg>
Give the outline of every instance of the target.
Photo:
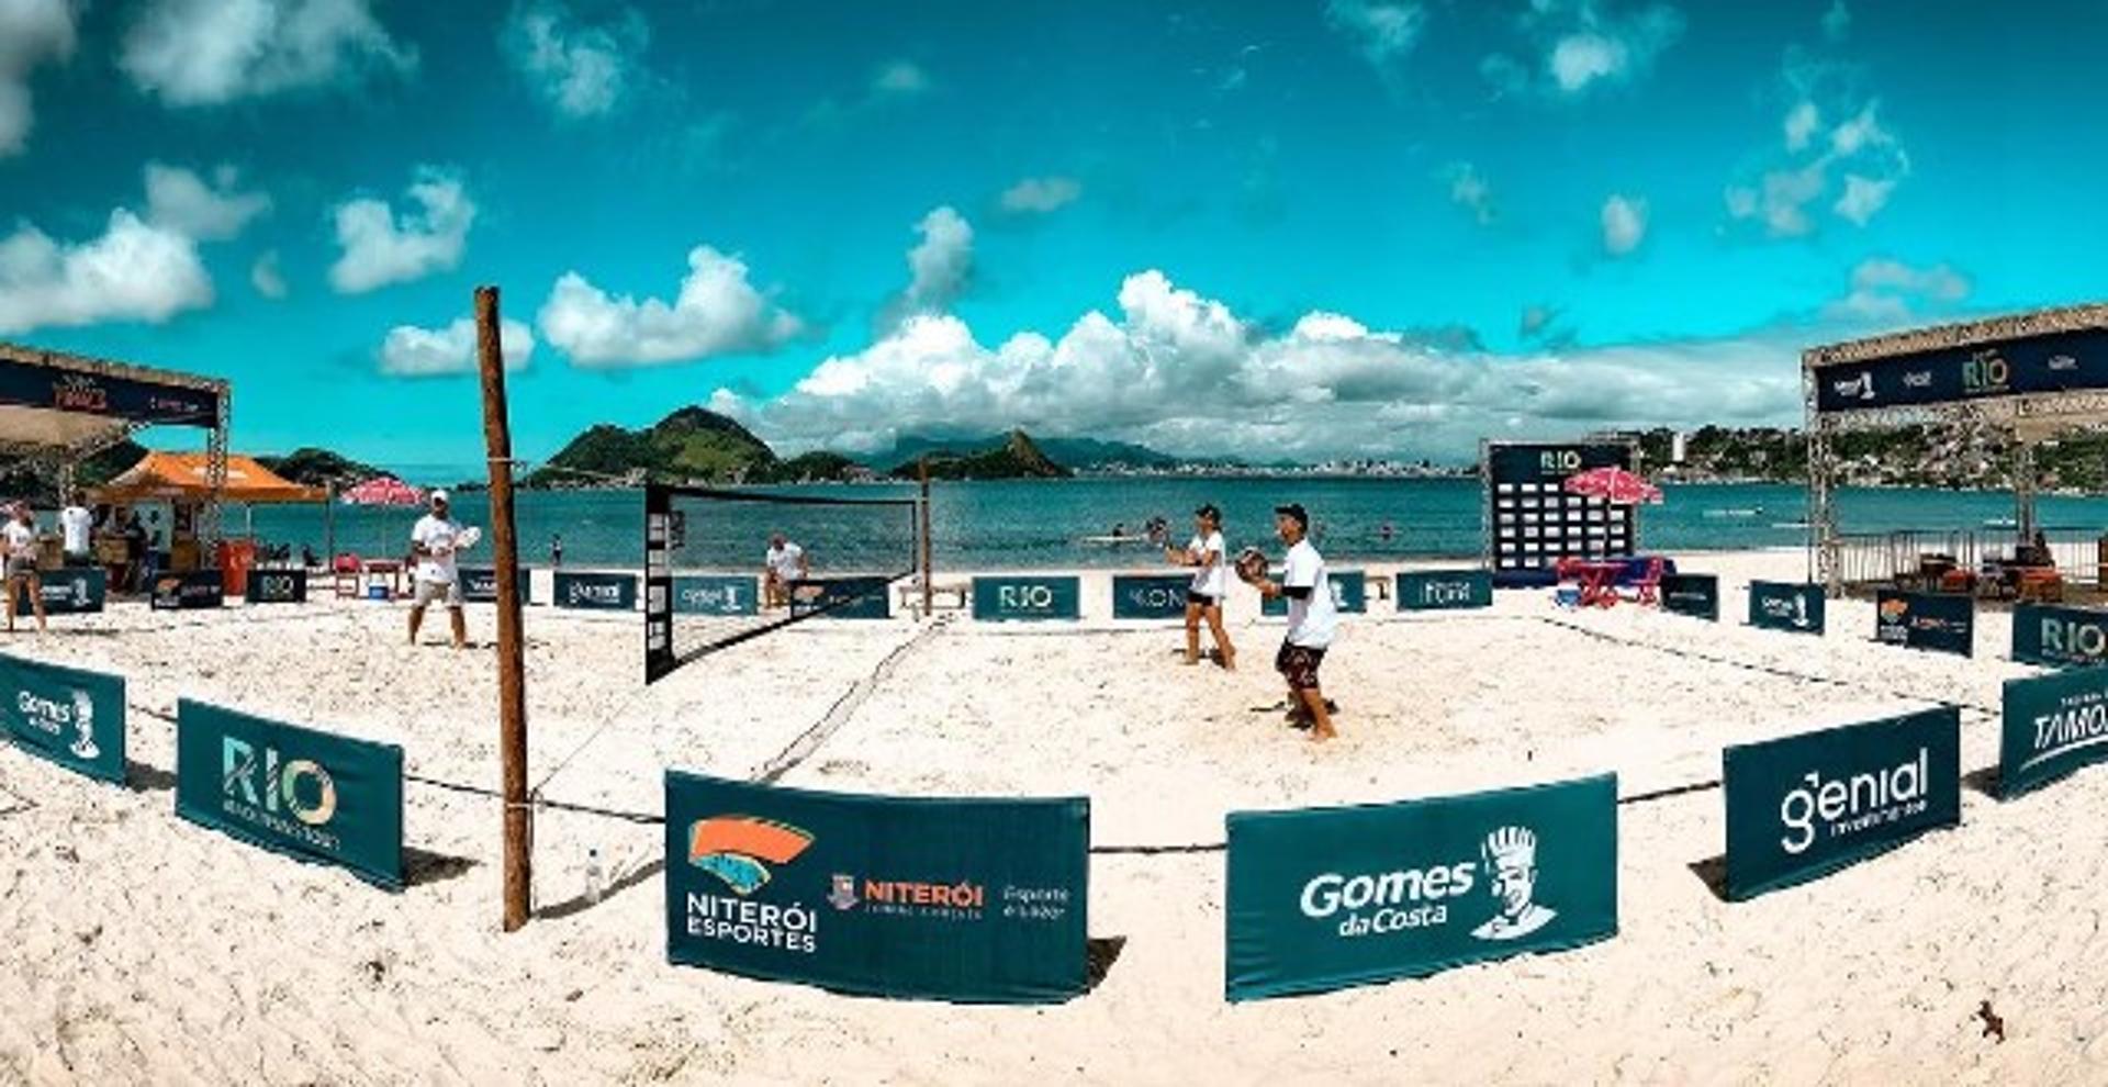
<svg viewBox="0 0 2108 1087">
<path fill-rule="evenodd" d="M 607 25 L 580 23 L 561 0 L 512 8 L 500 38 L 506 59 L 563 118 L 613 112 L 643 70 L 645 17 L 622 8 Z"/>
</svg>

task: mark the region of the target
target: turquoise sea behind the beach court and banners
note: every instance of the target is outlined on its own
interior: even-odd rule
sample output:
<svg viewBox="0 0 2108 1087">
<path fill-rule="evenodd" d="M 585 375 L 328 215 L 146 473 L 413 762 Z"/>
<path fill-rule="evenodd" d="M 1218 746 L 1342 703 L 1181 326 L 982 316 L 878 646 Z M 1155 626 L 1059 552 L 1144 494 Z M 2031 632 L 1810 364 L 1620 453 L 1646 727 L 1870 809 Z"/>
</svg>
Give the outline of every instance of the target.
<svg viewBox="0 0 2108 1087">
<path fill-rule="evenodd" d="M 778 493 L 852 499 L 913 497 L 906 485 L 793 487 Z M 1147 567 L 1145 546 L 1092 544 L 1115 525 L 1138 533 L 1164 516 L 1180 541 L 1202 501 L 1223 508 L 1231 548 L 1271 541 L 1271 510 L 1284 501 L 1309 508 L 1320 546 L 1332 560 L 1408 556 L 1476 556 L 1482 546 L 1484 493 L 1476 478 L 1079 478 L 934 485 L 932 539 L 938 569 Z M 521 552 L 546 565 L 550 539 L 563 537 L 565 565 L 639 567 L 643 562 L 643 499 L 639 491 L 533 491 L 519 501 Z M 2108 497 L 2045 495 L 2041 520 L 2053 529 L 2108 529 Z M 485 495 L 457 503 L 468 525 L 487 525 Z M 1640 512 L 1646 550 L 1783 548 L 1807 541 L 1800 525 L 1807 491 L 1790 485 L 1670 485 L 1661 506 Z M 2013 516 L 2013 497 L 1998 491 L 1847 489 L 1838 497 L 1847 533 L 1897 529 L 1986 529 Z M 257 537 L 325 550 L 325 516 L 316 506 L 257 508 Z M 417 510 L 335 508 L 341 552 L 401 554 Z M 242 510 L 228 512 L 232 531 Z M 1389 525 L 1389 535 L 1385 535 Z M 809 508 L 774 503 L 691 501 L 683 565 L 753 565 L 772 531 L 799 539 L 828 567 L 892 569 L 911 548 L 909 514 L 900 508 Z M 487 548 L 487 544 L 485 544 Z M 904 565 L 900 569 L 906 569 Z"/>
</svg>

